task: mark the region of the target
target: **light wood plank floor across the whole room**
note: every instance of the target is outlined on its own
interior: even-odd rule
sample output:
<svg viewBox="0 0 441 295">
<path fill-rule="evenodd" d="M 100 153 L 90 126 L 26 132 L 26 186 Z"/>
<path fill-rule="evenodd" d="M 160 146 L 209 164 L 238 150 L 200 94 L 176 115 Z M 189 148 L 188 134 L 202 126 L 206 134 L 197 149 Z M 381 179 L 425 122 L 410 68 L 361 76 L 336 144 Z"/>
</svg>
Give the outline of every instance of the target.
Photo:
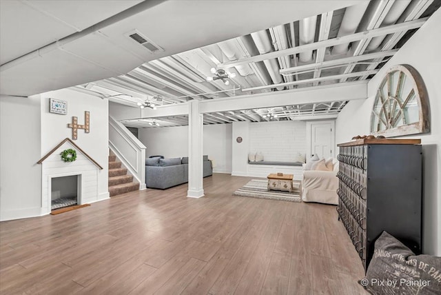
<svg viewBox="0 0 441 295">
<path fill-rule="evenodd" d="M 0 223 L 0 294 L 365 294 L 336 207 L 232 196 L 214 174 Z"/>
</svg>

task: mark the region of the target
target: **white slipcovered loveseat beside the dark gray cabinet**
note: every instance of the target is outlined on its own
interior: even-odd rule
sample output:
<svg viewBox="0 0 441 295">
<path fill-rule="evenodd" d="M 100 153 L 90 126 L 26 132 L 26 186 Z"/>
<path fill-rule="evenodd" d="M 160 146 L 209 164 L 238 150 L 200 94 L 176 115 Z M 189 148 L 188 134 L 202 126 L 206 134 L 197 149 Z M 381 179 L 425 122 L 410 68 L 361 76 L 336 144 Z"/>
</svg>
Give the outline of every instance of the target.
<svg viewBox="0 0 441 295">
<path fill-rule="evenodd" d="M 303 170 L 302 201 L 338 205 L 338 161 L 332 163 L 333 171 Z"/>
</svg>

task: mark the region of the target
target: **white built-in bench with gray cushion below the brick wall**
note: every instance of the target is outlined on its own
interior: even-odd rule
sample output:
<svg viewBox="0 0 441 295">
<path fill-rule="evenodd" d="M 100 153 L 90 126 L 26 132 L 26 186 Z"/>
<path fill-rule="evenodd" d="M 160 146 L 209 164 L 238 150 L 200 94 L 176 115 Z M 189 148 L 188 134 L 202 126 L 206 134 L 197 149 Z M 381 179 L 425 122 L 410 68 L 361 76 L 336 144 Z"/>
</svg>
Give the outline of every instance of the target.
<svg viewBox="0 0 441 295">
<path fill-rule="evenodd" d="M 293 174 L 294 179 L 302 179 L 302 164 L 294 161 L 248 161 L 248 176 L 267 177 L 271 173 Z"/>
</svg>

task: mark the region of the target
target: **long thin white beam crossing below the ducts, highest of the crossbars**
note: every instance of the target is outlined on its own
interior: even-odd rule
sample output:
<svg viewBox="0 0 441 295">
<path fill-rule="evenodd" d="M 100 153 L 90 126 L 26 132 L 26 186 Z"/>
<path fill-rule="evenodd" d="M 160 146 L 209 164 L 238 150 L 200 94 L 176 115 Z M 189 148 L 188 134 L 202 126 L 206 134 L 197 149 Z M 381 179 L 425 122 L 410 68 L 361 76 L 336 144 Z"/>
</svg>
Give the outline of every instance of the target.
<svg viewBox="0 0 441 295">
<path fill-rule="evenodd" d="M 334 46 L 338 44 L 351 43 L 353 41 L 359 41 L 362 39 L 384 36 L 387 34 L 393 34 L 396 32 L 407 31 L 411 29 L 420 28 L 426 21 L 428 17 L 422 19 L 416 19 L 415 21 L 408 21 L 406 23 L 398 23 L 396 25 L 387 26 L 383 28 L 377 28 L 373 30 L 368 30 L 366 32 L 358 32 L 356 34 L 350 34 L 343 37 L 328 39 L 325 41 L 318 41 L 316 43 L 309 43 L 305 45 L 300 45 L 295 48 L 288 48 L 286 50 L 278 50 L 275 52 L 269 52 L 265 54 L 256 55 L 254 57 L 249 57 L 245 59 L 238 59 L 238 61 L 230 61 L 227 63 L 222 63 L 218 65 L 218 68 L 232 68 L 236 65 L 242 65 L 245 63 L 256 63 L 258 61 L 265 61 L 267 59 L 275 59 L 277 57 L 283 57 L 285 55 L 297 54 L 300 52 L 305 52 L 308 50 L 316 50 L 318 48 L 327 48 L 329 46 Z"/>
</svg>

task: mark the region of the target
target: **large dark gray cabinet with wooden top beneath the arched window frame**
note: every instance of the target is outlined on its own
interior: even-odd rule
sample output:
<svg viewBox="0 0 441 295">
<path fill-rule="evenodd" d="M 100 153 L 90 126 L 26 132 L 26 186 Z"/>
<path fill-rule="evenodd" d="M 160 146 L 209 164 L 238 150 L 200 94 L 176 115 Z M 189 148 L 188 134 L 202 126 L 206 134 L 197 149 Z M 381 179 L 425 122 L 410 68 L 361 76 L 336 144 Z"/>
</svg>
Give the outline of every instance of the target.
<svg viewBox="0 0 441 295">
<path fill-rule="evenodd" d="M 338 218 L 367 269 L 383 231 L 414 253 L 422 241 L 419 139 L 359 139 L 339 144 Z"/>
</svg>

